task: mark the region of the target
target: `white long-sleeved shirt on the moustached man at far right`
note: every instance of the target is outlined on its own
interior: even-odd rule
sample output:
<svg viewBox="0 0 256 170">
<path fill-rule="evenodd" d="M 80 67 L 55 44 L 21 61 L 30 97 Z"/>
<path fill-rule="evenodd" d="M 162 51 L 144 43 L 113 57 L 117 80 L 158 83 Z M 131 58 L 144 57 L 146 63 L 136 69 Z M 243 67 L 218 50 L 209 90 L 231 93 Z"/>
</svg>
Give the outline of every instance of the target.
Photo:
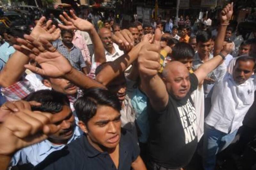
<svg viewBox="0 0 256 170">
<path fill-rule="evenodd" d="M 242 126 L 244 116 L 252 106 L 256 89 L 255 76 L 238 85 L 227 71 L 225 62 L 214 70 L 214 74 L 216 82 L 212 107 L 204 122 L 224 133 L 232 133 Z"/>
</svg>

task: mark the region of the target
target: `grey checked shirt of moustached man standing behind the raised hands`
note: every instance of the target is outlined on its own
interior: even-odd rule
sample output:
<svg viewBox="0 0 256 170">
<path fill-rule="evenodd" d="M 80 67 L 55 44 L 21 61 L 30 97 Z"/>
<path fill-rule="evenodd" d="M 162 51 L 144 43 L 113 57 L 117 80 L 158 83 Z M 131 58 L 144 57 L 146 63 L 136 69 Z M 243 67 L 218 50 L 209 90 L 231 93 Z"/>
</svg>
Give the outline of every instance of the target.
<svg viewBox="0 0 256 170">
<path fill-rule="evenodd" d="M 86 64 L 84 62 L 84 57 L 82 55 L 82 52 L 79 48 L 76 46 L 73 46 L 70 51 L 68 51 L 68 48 L 64 46 L 61 40 L 56 40 L 52 42 L 52 45 L 57 48 L 57 50 L 65 56 L 70 64 L 76 68 L 77 70 L 82 71 L 83 67 L 86 67 Z"/>
</svg>

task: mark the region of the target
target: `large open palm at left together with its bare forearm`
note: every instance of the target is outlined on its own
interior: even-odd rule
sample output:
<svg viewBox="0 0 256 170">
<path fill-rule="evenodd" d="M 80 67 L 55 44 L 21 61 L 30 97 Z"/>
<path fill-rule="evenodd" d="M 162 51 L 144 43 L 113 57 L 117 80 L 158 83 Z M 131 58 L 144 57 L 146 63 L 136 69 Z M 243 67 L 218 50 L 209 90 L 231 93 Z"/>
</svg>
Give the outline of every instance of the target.
<svg viewBox="0 0 256 170">
<path fill-rule="evenodd" d="M 30 36 L 26 36 L 25 38 L 26 39 L 30 38 L 34 40 Z M 56 48 L 54 48 L 49 41 L 43 38 L 40 38 L 39 41 L 40 43 L 42 43 L 40 48 L 36 48 L 36 44 L 39 43 L 36 40 L 32 41 L 32 43 L 29 45 L 26 45 L 25 43 L 22 42 L 23 45 L 26 45 L 27 48 L 31 48 L 33 50 L 36 49 L 37 53 L 33 53 L 34 51 L 33 52 L 30 51 L 28 56 L 34 59 L 41 66 L 41 68 L 39 68 L 39 67 L 26 64 L 25 68 L 35 72 L 36 74 L 40 74 L 42 76 L 47 76 L 50 78 L 63 77 L 81 88 L 89 88 L 89 87 L 105 88 L 104 85 L 89 78 L 82 72 L 74 69 L 70 65 L 68 59 L 63 55 L 61 55 L 60 52 L 58 52 Z M 17 50 L 20 50 L 20 48 L 17 48 Z"/>
</svg>

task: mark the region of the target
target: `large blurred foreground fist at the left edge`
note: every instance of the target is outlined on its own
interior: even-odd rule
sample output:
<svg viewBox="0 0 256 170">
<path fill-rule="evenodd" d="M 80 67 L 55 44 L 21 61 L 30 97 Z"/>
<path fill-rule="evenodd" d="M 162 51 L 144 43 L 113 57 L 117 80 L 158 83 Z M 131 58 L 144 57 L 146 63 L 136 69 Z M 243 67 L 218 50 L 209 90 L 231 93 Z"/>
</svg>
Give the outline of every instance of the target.
<svg viewBox="0 0 256 170">
<path fill-rule="evenodd" d="M 23 147 L 47 139 L 60 129 L 53 123 L 62 121 L 66 116 L 30 110 L 7 115 L 0 124 L 0 155 L 11 156 Z"/>
</svg>

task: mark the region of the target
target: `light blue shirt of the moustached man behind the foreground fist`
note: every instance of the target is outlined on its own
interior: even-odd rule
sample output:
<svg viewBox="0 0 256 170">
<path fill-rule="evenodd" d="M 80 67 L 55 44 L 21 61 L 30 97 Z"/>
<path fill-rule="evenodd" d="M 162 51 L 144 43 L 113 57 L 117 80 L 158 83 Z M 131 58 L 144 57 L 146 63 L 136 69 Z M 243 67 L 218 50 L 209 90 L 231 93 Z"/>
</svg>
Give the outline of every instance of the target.
<svg viewBox="0 0 256 170">
<path fill-rule="evenodd" d="M 82 133 L 80 132 L 79 127 L 76 126 L 74 134 L 68 141 L 68 144 L 79 138 L 81 134 Z M 65 146 L 66 144 L 54 145 L 49 140 L 44 140 L 40 143 L 33 144 L 16 152 L 12 157 L 9 165 L 15 166 L 17 164 L 22 165 L 31 163 L 32 165 L 36 166 L 42 162 L 49 154 L 54 151 L 61 150 Z"/>
</svg>

